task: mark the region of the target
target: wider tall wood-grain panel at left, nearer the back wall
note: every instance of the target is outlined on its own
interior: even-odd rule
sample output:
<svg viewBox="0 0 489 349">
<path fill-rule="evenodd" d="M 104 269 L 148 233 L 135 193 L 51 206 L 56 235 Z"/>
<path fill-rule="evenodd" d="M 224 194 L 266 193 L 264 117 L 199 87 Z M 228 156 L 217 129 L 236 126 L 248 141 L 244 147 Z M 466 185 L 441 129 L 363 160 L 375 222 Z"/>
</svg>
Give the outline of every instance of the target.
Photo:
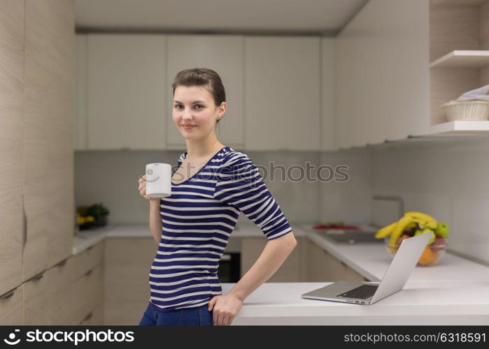
<svg viewBox="0 0 489 349">
<path fill-rule="evenodd" d="M 24 280 L 71 255 L 73 1 L 25 1 Z"/>
</svg>

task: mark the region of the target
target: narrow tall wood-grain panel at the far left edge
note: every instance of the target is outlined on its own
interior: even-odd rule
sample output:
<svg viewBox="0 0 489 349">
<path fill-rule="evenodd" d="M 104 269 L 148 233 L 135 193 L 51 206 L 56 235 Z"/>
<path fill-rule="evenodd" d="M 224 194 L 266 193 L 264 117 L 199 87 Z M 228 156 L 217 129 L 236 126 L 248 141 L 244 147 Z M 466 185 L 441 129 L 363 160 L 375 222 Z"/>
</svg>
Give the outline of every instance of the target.
<svg viewBox="0 0 489 349">
<path fill-rule="evenodd" d="M 22 283 L 23 70 L 24 1 L 0 1 L 0 295 Z"/>
</svg>

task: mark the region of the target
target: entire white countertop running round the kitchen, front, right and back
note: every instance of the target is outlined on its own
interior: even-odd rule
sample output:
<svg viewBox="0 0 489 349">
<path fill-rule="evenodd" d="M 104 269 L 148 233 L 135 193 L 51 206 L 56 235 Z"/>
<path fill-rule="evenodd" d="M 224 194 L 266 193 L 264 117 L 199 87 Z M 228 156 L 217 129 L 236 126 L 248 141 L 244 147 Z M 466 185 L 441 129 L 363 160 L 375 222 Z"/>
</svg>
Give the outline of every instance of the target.
<svg viewBox="0 0 489 349">
<path fill-rule="evenodd" d="M 311 225 L 293 224 L 306 237 L 372 281 L 392 258 L 383 243 L 341 244 Z M 73 254 L 111 237 L 153 238 L 147 224 L 114 224 L 79 232 Z M 253 224 L 239 225 L 229 241 L 263 237 Z M 264 283 L 249 295 L 233 325 L 489 325 L 489 267 L 446 253 L 438 265 L 415 267 L 404 289 L 372 305 L 302 299 L 324 283 Z M 227 294 L 235 283 L 221 283 Z"/>
</svg>

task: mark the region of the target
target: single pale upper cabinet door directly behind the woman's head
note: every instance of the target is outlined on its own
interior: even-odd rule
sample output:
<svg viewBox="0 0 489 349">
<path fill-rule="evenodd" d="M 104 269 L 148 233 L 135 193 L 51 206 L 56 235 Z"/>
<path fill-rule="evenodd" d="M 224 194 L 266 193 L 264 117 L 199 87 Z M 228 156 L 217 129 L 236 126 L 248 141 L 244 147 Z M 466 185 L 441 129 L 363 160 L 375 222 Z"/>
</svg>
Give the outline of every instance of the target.
<svg viewBox="0 0 489 349">
<path fill-rule="evenodd" d="M 219 121 L 216 135 L 231 147 L 243 147 L 243 36 L 170 35 L 168 36 L 168 112 L 165 111 L 169 146 L 186 147 L 185 139 L 171 118 L 175 75 L 187 68 L 211 68 L 225 87 L 227 111 Z"/>
</svg>

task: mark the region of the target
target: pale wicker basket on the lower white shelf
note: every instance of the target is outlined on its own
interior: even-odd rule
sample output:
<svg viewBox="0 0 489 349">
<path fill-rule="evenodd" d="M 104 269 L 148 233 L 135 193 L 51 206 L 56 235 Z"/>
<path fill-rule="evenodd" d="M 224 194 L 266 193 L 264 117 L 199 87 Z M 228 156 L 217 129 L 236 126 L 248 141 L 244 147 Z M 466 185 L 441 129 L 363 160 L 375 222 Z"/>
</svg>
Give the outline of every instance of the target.
<svg viewBox="0 0 489 349">
<path fill-rule="evenodd" d="M 489 101 L 450 101 L 441 105 L 448 121 L 484 121 L 489 119 Z"/>
</svg>

